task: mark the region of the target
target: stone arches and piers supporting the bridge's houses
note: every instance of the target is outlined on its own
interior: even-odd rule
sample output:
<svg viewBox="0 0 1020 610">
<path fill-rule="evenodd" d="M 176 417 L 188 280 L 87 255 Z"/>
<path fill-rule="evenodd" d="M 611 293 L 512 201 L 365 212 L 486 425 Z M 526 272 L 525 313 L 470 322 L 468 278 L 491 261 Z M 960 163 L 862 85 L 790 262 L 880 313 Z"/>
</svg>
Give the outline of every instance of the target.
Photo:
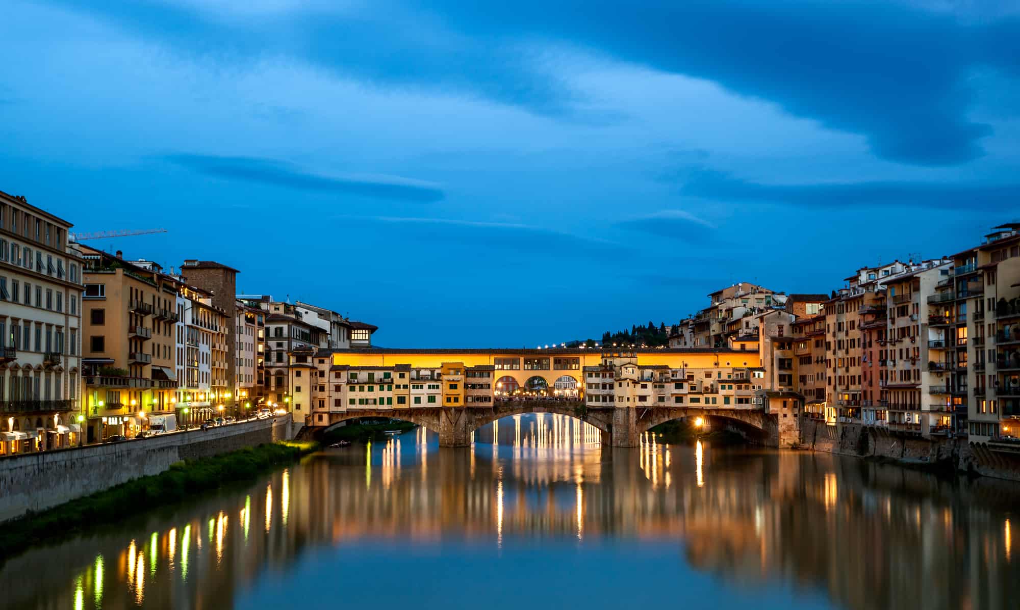
<svg viewBox="0 0 1020 610">
<path fill-rule="evenodd" d="M 312 426 L 312 433 L 363 417 L 390 417 L 421 425 L 437 434 L 440 447 L 467 447 L 471 433 L 504 417 L 524 413 L 567 415 L 590 423 L 602 431 L 604 445 L 638 447 L 641 435 L 653 427 L 680 418 L 701 417 L 705 421 L 736 421 L 760 431 L 762 442 L 779 446 L 777 415 L 761 407 L 596 407 L 579 400 L 505 400 L 492 407 L 432 407 L 404 409 L 349 409 L 329 413 L 328 422 Z"/>
</svg>

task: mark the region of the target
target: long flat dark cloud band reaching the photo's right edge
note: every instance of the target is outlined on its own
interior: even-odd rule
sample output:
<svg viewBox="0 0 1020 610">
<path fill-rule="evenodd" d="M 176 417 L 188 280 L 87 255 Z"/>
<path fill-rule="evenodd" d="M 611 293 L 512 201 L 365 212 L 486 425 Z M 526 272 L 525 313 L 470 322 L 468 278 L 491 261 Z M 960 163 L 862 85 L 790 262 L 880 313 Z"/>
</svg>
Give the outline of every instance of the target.
<svg viewBox="0 0 1020 610">
<path fill-rule="evenodd" d="M 1020 201 L 1020 184 L 884 181 L 765 185 L 715 171 L 693 173 L 680 192 L 714 201 L 844 209 L 900 206 L 1000 212 L 1015 211 Z"/>
</svg>

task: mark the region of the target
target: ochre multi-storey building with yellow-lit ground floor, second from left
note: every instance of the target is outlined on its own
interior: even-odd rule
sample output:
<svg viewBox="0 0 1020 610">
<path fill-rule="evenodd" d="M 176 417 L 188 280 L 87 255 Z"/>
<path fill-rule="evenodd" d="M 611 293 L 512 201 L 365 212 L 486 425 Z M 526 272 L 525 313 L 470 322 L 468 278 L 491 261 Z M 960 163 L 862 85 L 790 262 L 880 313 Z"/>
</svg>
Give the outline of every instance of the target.
<svg viewBox="0 0 1020 610">
<path fill-rule="evenodd" d="M 125 260 L 119 251 L 81 250 L 87 442 L 175 428 L 181 281 L 152 261 Z"/>
</svg>

